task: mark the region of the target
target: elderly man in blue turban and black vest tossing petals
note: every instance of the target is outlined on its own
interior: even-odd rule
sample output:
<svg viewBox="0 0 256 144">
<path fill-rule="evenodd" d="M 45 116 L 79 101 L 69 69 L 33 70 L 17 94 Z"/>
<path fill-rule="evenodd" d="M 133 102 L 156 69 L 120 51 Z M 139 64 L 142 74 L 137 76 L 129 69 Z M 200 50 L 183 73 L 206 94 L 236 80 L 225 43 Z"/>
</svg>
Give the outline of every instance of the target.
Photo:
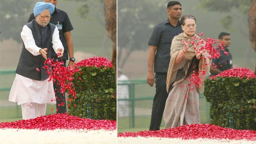
<svg viewBox="0 0 256 144">
<path fill-rule="evenodd" d="M 63 45 L 59 30 L 49 23 L 55 6 L 38 2 L 34 7 L 36 19 L 23 26 L 20 33 L 23 40 L 22 52 L 16 69 L 9 101 L 22 107 L 23 120 L 36 118 L 46 113 L 46 104 L 56 104 L 53 82 L 43 68 L 51 51 L 63 56 Z"/>
</svg>

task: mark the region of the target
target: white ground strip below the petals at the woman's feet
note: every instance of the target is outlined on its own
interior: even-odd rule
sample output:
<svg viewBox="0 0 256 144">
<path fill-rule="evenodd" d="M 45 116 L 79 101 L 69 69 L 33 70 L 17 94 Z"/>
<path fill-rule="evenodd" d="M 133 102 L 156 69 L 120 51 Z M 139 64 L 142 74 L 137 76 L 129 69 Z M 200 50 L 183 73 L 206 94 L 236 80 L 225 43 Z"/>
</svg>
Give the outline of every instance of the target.
<svg viewBox="0 0 256 144">
<path fill-rule="evenodd" d="M 248 140 L 212 140 L 198 138 L 196 140 L 182 140 L 180 138 L 160 137 L 118 137 L 118 144 L 256 144 Z"/>
</svg>

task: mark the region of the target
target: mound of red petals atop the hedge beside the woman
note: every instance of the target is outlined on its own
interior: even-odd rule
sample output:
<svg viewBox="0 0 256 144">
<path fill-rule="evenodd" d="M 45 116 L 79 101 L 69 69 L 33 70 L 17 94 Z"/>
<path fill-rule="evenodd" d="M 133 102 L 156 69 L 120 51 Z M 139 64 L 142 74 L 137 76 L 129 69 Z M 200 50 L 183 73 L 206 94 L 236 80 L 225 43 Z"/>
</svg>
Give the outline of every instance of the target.
<svg viewBox="0 0 256 144">
<path fill-rule="evenodd" d="M 237 67 L 229 70 L 225 70 L 216 76 L 209 77 L 214 79 L 215 77 L 239 77 L 239 78 L 255 78 L 255 73 L 249 68 Z"/>
</svg>

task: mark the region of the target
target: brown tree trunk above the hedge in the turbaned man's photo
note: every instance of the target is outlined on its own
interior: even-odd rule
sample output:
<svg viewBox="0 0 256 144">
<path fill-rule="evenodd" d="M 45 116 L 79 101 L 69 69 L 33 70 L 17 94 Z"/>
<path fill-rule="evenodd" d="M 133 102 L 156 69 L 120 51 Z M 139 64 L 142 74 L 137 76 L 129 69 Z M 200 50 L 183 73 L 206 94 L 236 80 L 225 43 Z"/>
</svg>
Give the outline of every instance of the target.
<svg viewBox="0 0 256 144">
<path fill-rule="evenodd" d="M 113 47 L 112 65 L 116 70 L 116 0 L 104 1 L 104 13 L 105 13 L 105 22 L 106 22 L 105 27 L 106 27 L 108 36 L 112 41 L 112 47 Z"/>
</svg>

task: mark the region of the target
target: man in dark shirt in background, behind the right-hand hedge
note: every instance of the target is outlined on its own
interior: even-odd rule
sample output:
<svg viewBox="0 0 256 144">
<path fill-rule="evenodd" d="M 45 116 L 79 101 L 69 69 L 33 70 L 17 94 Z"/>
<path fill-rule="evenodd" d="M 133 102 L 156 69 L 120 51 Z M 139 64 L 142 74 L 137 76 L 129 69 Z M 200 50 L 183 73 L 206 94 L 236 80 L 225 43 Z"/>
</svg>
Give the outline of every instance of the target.
<svg viewBox="0 0 256 144">
<path fill-rule="evenodd" d="M 233 68 L 232 55 L 229 52 L 229 49 L 227 49 L 227 47 L 229 47 L 230 45 L 230 34 L 226 32 L 221 32 L 218 39 L 220 42 L 223 42 L 224 50 L 221 50 L 221 48 L 216 48 L 216 50 L 220 50 L 220 57 L 214 58 L 212 61 L 210 67 L 211 76 L 217 75 L 224 70 Z"/>
</svg>

